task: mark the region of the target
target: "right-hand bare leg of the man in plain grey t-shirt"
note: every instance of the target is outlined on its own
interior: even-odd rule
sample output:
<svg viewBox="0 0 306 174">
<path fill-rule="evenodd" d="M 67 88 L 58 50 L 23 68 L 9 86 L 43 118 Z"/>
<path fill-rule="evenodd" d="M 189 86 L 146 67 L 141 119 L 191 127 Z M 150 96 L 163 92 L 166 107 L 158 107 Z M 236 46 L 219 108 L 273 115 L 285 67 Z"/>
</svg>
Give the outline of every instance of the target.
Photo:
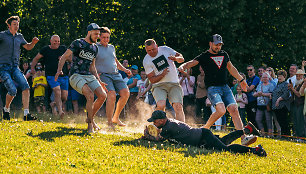
<svg viewBox="0 0 306 174">
<path fill-rule="evenodd" d="M 125 126 L 125 124 L 122 124 L 121 121 L 119 120 L 119 115 L 130 97 L 130 91 L 127 88 L 121 89 L 119 91 L 119 95 L 120 98 L 117 102 L 112 122 L 117 123 L 119 126 Z"/>
</svg>

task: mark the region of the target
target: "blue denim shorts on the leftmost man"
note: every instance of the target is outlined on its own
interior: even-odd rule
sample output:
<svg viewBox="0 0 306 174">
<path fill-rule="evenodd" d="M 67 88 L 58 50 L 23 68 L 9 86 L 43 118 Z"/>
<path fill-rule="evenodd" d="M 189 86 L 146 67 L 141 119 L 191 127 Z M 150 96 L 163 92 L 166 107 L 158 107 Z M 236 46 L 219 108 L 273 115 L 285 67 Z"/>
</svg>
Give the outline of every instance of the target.
<svg viewBox="0 0 306 174">
<path fill-rule="evenodd" d="M 11 96 L 17 94 L 15 83 L 22 91 L 30 88 L 27 79 L 18 66 L 12 67 L 9 64 L 0 64 L 0 79 Z"/>
</svg>

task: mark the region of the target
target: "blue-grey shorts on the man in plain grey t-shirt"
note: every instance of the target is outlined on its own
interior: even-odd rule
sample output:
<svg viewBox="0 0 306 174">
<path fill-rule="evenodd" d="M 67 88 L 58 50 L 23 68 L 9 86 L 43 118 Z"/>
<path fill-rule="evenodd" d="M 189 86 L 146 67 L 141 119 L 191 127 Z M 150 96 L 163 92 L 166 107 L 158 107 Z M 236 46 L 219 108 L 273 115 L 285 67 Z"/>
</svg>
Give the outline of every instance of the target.
<svg viewBox="0 0 306 174">
<path fill-rule="evenodd" d="M 108 74 L 102 73 L 100 75 L 100 79 L 102 82 L 106 83 L 106 89 L 108 91 L 121 91 L 124 88 L 128 88 L 126 83 L 123 81 L 120 73 L 118 74 Z"/>
</svg>

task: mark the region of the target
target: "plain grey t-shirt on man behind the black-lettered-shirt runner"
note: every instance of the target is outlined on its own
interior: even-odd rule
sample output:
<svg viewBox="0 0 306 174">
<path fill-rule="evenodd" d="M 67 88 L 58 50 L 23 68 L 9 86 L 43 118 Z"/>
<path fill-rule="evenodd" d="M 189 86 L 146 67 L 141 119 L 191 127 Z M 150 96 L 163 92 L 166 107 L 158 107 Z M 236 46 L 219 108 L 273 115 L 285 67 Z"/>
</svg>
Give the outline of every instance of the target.
<svg viewBox="0 0 306 174">
<path fill-rule="evenodd" d="M 116 64 L 115 47 L 111 44 L 108 44 L 107 47 L 104 47 L 101 44 L 97 44 L 97 46 L 98 46 L 98 55 L 96 57 L 97 72 L 117 74 L 118 68 Z"/>
</svg>

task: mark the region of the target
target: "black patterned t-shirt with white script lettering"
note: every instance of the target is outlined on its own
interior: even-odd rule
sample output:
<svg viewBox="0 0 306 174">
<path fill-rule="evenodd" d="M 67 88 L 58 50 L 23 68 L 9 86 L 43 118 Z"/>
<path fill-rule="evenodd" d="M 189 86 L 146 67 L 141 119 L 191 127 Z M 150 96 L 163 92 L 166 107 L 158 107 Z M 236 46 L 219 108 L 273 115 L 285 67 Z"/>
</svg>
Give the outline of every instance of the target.
<svg viewBox="0 0 306 174">
<path fill-rule="evenodd" d="M 77 39 L 71 43 L 69 48 L 73 52 L 70 75 L 74 73 L 91 75 L 89 67 L 98 54 L 96 44 L 90 44 L 84 39 Z"/>
</svg>

